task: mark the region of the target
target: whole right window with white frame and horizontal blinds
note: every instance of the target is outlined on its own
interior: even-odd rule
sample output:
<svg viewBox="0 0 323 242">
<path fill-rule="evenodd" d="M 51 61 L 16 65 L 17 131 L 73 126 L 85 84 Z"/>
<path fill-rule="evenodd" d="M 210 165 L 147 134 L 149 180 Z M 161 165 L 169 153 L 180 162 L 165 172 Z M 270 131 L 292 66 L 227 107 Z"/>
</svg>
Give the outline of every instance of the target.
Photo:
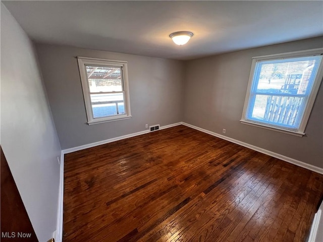
<svg viewBox="0 0 323 242">
<path fill-rule="evenodd" d="M 323 77 L 322 53 L 253 57 L 241 123 L 303 136 Z"/>
</svg>

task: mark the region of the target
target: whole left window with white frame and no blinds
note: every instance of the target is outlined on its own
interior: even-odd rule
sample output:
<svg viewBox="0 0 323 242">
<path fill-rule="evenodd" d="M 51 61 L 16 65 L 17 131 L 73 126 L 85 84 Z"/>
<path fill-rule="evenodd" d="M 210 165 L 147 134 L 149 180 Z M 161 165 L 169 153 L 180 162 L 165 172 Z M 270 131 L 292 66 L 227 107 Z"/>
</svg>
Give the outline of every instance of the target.
<svg viewBox="0 0 323 242">
<path fill-rule="evenodd" d="M 127 62 L 77 57 L 88 124 L 130 118 Z"/>
</svg>

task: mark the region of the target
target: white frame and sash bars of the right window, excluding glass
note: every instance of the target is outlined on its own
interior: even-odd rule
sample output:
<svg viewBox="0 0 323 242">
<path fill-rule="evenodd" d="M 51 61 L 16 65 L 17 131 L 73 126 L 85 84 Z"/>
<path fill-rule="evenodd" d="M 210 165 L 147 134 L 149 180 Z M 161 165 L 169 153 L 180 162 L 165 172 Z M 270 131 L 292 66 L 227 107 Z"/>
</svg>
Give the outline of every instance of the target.
<svg viewBox="0 0 323 242">
<path fill-rule="evenodd" d="M 323 48 L 320 48 L 309 51 L 298 51 L 271 56 L 254 57 L 252 61 L 244 109 L 242 113 L 242 118 L 240 120 L 241 123 L 250 124 L 262 128 L 269 128 L 280 132 L 282 132 L 283 130 L 283 133 L 286 133 L 285 131 L 287 131 L 287 133 L 291 132 L 297 133 L 296 135 L 303 135 L 309 117 L 309 113 L 311 111 L 312 105 L 314 103 L 319 88 L 320 81 L 323 77 L 321 58 L 322 53 Z M 258 89 L 258 84 L 260 80 L 260 70 L 263 64 L 288 63 L 290 61 L 296 62 L 308 58 L 309 56 L 313 56 L 312 59 L 316 59 L 316 61 L 318 61 L 318 65 L 315 65 L 312 70 L 310 77 L 312 81 L 310 82 L 309 86 L 307 86 L 305 93 L 275 93 L 270 91 L 266 92 L 265 89 Z M 300 111 L 298 113 L 297 120 L 295 120 L 295 125 L 279 124 L 277 122 L 271 122 L 270 120 L 261 120 L 260 118 L 255 118 L 254 116 L 252 116 L 255 107 L 255 99 L 257 98 L 257 96 L 260 95 L 281 98 L 302 98 L 303 100 L 300 105 Z M 266 106 L 264 105 L 264 107 Z"/>
</svg>

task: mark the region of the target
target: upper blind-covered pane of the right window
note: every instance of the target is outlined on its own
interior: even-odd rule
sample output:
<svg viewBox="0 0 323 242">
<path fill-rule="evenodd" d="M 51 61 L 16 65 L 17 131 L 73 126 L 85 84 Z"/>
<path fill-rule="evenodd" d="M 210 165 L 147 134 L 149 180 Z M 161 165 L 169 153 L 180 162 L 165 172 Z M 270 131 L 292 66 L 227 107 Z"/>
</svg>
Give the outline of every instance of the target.
<svg viewBox="0 0 323 242">
<path fill-rule="evenodd" d="M 257 93 L 306 94 L 319 56 L 289 58 L 258 63 Z M 316 64 L 316 66 L 315 66 Z M 316 71 L 316 68 L 314 69 Z"/>
</svg>

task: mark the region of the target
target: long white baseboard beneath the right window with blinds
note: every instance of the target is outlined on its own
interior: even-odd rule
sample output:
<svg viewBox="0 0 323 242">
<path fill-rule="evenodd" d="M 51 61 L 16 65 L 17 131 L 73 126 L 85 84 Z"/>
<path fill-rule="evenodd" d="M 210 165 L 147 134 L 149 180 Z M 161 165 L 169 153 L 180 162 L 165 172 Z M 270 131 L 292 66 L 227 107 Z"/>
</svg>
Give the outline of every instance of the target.
<svg viewBox="0 0 323 242">
<path fill-rule="evenodd" d="M 273 156 L 275 158 L 278 158 L 280 160 L 283 160 L 283 161 L 286 161 L 286 162 L 289 162 L 289 163 L 292 163 L 294 165 L 297 165 L 297 166 L 300 166 L 300 167 L 303 167 L 305 169 L 308 169 L 308 170 L 311 170 L 311 171 L 315 171 L 319 174 L 323 174 L 323 168 L 320 168 L 320 167 L 317 167 L 317 166 L 314 166 L 314 165 L 310 165 L 310 164 L 307 164 L 305 162 L 302 162 L 302 161 L 299 161 L 299 160 L 295 160 L 293 158 L 290 158 L 290 157 L 287 157 L 287 156 L 284 156 L 284 155 L 281 155 L 281 154 L 278 154 L 278 153 L 275 153 L 275 152 L 272 152 L 272 151 L 269 151 L 269 150 L 265 150 L 265 149 L 262 149 L 260 147 L 257 147 L 257 146 L 254 146 L 254 145 L 250 145 L 250 144 L 247 144 L 247 143 L 244 143 L 242 141 L 239 141 L 239 140 L 235 140 L 235 139 L 232 139 L 232 138 L 229 138 L 227 136 L 224 136 L 224 135 L 220 135 L 220 134 L 217 134 L 217 133 L 214 133 L 214 132 L 211 132 L 211 131 L 208 131 L 208 130 L 204 130 L 202 128 L 199 128 L 199 127 L 196 127 L 194 125 L 190 125 L 190 124 L 187 124 L 187 123 L 182 123 L 183 125 L 187 126 L 187 127 L 190 127 L 192 129 L 195 129 L 195 130 L 198 130 L 198 131 L 201 131 L 203 133 L 206 133 L 206 134 L 209 134 L 209 135 L 212 135 L 212 136 L 215 136 L 215 137 L 218 137 L 220 139 L 223 139 L 223 140 L 227 140 L 227 141 L 230 141 L 232 143 L 235 143 L 235 144 L 238 144 L 238 145 L 241 145 L 241 146 L 244 146 L 244 147 L 247 147 L 249 149 L 252 149 L 252 150 L 255 150 L 255 151 L 258 151 L 260 153 L 263 153 L 263 154 L 266 154 L 266 155 L 270 155 L 270 156 Z"/>
</svg>

